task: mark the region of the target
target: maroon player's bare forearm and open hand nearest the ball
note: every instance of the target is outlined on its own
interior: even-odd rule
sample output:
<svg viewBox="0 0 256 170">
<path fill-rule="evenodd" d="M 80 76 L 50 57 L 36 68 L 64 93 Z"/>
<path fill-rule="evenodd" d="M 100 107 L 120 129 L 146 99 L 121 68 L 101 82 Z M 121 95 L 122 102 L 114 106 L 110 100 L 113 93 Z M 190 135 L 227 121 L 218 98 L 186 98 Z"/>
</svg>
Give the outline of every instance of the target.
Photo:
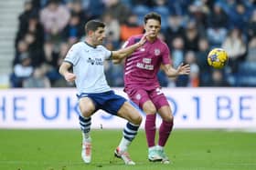
<svg viewBox="0 0 256 170">
<path fill-rule="evenodd" d="M 183 63 L 181 65 L 178 65 L 176 69 L 172 65 L 164 65 L 163 69 L 168 77 L 176 77 L 178 75 L 190 74 L 190 65 L 183 65 Z"/>
</svg>

